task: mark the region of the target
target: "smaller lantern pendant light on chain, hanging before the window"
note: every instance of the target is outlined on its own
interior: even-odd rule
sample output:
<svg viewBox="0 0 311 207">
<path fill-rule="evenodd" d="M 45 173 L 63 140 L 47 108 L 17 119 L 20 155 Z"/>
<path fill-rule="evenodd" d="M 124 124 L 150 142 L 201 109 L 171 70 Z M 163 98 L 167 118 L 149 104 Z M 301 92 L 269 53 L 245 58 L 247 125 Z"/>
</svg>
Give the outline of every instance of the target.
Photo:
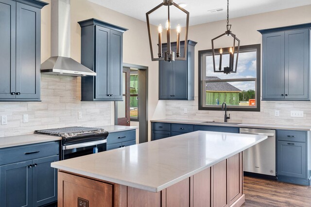
<svg viewBox="0 0 311 207">
<path fill-rule="evenodd" d="M 236 37 L 236 35 L 234 33 L 232 33 L 231 31 L 231 24 L 229 24 L 229 0 L 227 0 L 227 31 L 225 31 L 225 33 L 219 35 L 218 37 L 215 37 L 214 39 L 212 39 L 212 54 L 213 54 L 213 65 L 214 65 L 214 73 L 225 73 L 225 74 L 229 74 L 229 73 L 236 73 L 237 72 L 237 66 L 238 66 L 238 58 L 239 58 L 239 50 L 240 50 L 240 40 Z M 233 37 L 233 45 L 232 47 L 229 48 L 220 48 L 219 50 L 219 68 L 216 69 L 215 66 L 215 51 L 214 51 L 214 40 L 221 38 L 222 36 L 227 35 L 227 36 L 231 36 Z M 238 48 L 237 50 L 235 50 L 235 42 L 238 42 Z M 226 51 L 225 51 L 226 50 Z M 223 59 L 223 53 L 225 54 L 229 54 L 229 63 L 224 63 L 225 66 L 224 69 L 222 68 L 222 59 Z M 236 55 L 236 60 L 234 60 L 234 56 Z M 234 61 L 235 61 L 235 65 L 234 65 Z"/>
</svg>

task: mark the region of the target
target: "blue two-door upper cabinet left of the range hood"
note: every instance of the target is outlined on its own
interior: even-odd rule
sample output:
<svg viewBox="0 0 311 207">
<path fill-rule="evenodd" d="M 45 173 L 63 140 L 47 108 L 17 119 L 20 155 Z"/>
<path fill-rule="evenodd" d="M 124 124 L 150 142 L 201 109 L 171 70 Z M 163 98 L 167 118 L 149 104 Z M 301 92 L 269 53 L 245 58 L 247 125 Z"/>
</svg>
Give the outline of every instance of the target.
<svg viewBox="0 0 311 207">
<path fill-rule="evenodd" d="M 47 3 L 20 2 L 0 0 L 0 101 L 40 100 L 40 9 Z"/>
</svg>

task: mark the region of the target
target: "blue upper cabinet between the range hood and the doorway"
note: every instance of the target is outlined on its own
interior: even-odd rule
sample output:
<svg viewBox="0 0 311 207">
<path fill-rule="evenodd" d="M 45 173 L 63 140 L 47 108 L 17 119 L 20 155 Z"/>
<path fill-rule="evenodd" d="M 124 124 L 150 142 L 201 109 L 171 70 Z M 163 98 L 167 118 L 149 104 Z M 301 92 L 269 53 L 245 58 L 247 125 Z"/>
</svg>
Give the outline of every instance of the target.
<svg viewBox="0 0 311 207">
<path fill-rule="evenodd" d="M 97 74 L 82 77 L 82 101 L 122 101 L 122 45 L 127 29 L 93 18 L 78 23 L 81 64 Z"/>
</svg>

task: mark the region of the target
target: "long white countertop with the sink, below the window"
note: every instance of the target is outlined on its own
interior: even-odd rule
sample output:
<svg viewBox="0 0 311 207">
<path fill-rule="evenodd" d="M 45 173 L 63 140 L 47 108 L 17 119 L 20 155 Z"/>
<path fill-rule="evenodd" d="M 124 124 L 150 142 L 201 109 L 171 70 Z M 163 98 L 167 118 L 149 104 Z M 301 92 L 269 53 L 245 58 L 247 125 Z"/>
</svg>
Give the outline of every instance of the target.
<svg viewBox="0 0 311 207">
<path fill-rule="evenodd" d="M 209 121 L 209 120 L 206 120 Z M 219 124 L 219 123 L 204 123 L 202 120 L 180 120 L 180 119 L 157 119 L 151 120 L 151 122 L 166 122 L 176 124 L 195 124 L 195 125 L 209 125 L 209 126 L 223 126 L 223 127 L 245 127 L 245 128 L 266 128 L 266 129 L 287 129 L 287 130 L 301 130 L 311 131 L 311 126 L 299 126 L 299 125 L 277 125 L 277 124 L 255 124 L 255 123 L 241 123 L 241 124 Z"/>
</svg>

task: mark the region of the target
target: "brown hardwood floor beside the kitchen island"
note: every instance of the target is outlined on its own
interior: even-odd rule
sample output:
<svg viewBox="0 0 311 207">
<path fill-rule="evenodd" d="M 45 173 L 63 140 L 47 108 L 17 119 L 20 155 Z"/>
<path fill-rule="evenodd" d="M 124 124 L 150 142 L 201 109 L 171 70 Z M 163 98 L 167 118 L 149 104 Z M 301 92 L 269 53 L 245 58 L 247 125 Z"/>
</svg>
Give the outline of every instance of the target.
<svg viewBox="0 0 311 207">
<path fill-rule="evenodd" d="M 242 207 L 311 207 L 311 187 L 244 176 Z"/>
</svg>

